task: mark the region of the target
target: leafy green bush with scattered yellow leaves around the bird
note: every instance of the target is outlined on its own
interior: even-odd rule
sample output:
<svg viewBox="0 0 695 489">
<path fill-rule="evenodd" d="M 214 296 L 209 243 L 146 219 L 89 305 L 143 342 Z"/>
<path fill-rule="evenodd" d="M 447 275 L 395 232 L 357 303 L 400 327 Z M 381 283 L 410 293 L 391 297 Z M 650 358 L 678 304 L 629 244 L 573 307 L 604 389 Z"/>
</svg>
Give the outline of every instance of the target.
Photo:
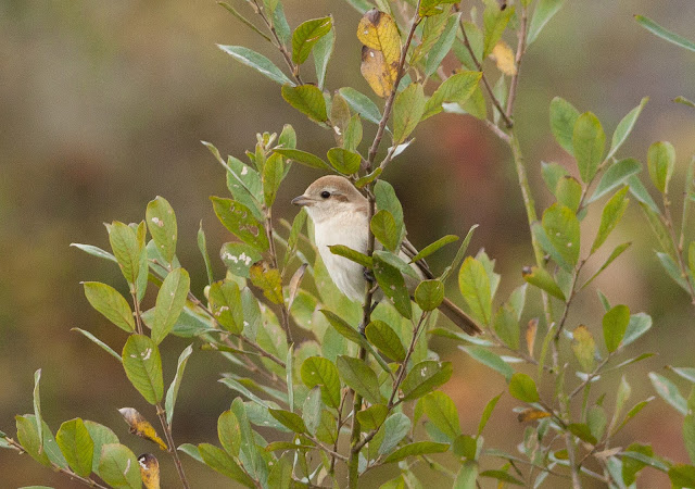
<svg viewBox="0 0 695 489">
<path fill-rule="evenodd" d="M 592 479 L 628 487 L 644 467 L 668 473 L 675 487 L 693 487 L 693 465 L 674 464 L 636 441 L 614 447 L 616 435 L 654 399 L 631 401 L 627 373 L 630 365 L 653 355 L 631 347 L 649 330 L 652 318 L 611 304 L 599 290 L 605 313 L 598 338 L 584 325 L 570 329 L 567 318 L 577 297 L 589 293 L 593 280 L 630 248 L 631 242 L 624 242 L 599 253 L 631 199 L 655 231 L 659 262 L 695 303 L 695 241 L 687 236 L 695 160 L 688 167 L 679 226 L 670 212 L 674 148 L 658 141 L 646 155 L 661 205 L 640 179 L 640 161 L 619 158 L 647 99 L 622 118 L 607 143 L 594 113 L 580 113 L 555 98 L 549 106 L 552 131 L 576 167 L 569 172 L 555 163 L 543 165 L 543 180 L 556 201 L 539 216 L 514 108 L 523 54 L 563 1 L 501 5 L 485 0 L 481 15 L 464 13 L 447 0 L 377 0 L 376 9 L 366 0 L 349 2 L 364 14 L 356 26 L 363 43 L 362 74 L 383 104 L 352 87 L 336 91 L 325 87 L 336 42 L 332 17 L 308 20 L 291 30 L 281 2 L 248 1 L 261 29 L 223 3 L 279 50 L 287 71 L 245 47 L 220 49 L 281 85 L 282 98 L 334 140 L 325 158 L 312 154 L 298 149 L 298 136 L 286 125 L 280 135 L 258 135 L 255 147 L 247 152 L 248 163 L 231 155 L 225 159 L 205 142 L 224 167 L 232 197 L 212 197 L 212 205 L 238 239 L 219 251 L 227 266 L 223 279 L 213 277 L 201 227 L 198 244 L 208 286 L 202 296 L 191 290 L 189 274 L 176 255 L 175 212 L 161 197 L 148 204 L 144 221 L 106 226 L 111 251 L 75 244 L 117 264 L 129 287 L 126 299 L 106 284 L 84 284 L 89 303 L 128 334 L 122 353 L 89 331 L 77 331 L 116 358 L 132 386 L 154 408 L 151 415 L 159 418 L 163 437 L 147 416 L 124 408 L 119 411 L 131 432 L 172 455 L 184 487 L 190 482 L 182 454 L 248 487 L 356 487 L 362 474 L 388 464 L 397 467 L 399 474 L 384 481 L 387 488 L 418 487 L 413 471 L 421 465 L 441 472 L 457 488 L 477 487 L 484 478 L 532 487 L 546 480 L 552 487 L 581 487 Z M 691 49 L 688 41 L 652 21 L 637 21 Z M 507 32 L 516 33 L 516 50 L 503 40 Z M 447 55 L 458 63 L 451 75 L 442 67 Z M 307 67 L 309 58 L 315 73 Z M 494 64 L 483 70 L 488 59 Z M 685 99 L 680 101 L 687 104 Z M 407 150 L 418 123 L 440 112 L 477 117 L 514 156 L 535 264 L 525 267 L 523 283 L 507 298 L 496 297 L 502 277 L 494 271 L 494 260 L 483 251 L 466 256 L 476 226 L 439 276 L 421 281 L 413 297 L 405 287 L 404 274 L 412 272 L 396 250 L 406 220 L 395 190 L 381 174 Z M 363 141 L 363 123 L 376 126 L 371 141 Z M 374 308 L 376 287 L 365 287 L 364 302 L 358 304 L 332 284 L 312 244 L 314 228 L 304 211 L 292 224 L 274 220 L 278 188 L 294 163 L 344 175 L 367 197 L 368 252 L 344 246 L 331 251 L 370 272 L 365 274 L 367 280 L 376 281 L 388 297 L 378 306 Z M 590 206 L 601 208 L 597 228 L 584 221 Z M 589 249 L 582 249 L 582 236 L 592 237 Z M 458 240 L 444 236 L 416 259 Z M 602 263 L 593 275 L 585 272 L 589 261 Z M 467 312 L 484 327 L 480 338 L 444 327 L 444 322 L 438 326 L 437 308 L 455 273 Z M 149 284 L 159 291 L 154 308 L 143 311 Z M 538 302 L 538 308 L 527 302 Z M 532 317 L 528 310 L 542 315 Z M 589 324 L 594 318 L 582 314 L 582 321 Z M 191 338 L 192 343 L 178 358 L 176 375 L 165 391 L 159 344 L 170 335 Z M 462 430 L 456 405 L 438 390 L 451 378 L 452 364 L 429 349 L 432 337 L 458 343 L 466 354 L 506 379 L 508 393 L 518 401 L 515 412 L 527 426 L 517 453 L 490 447 L 482 436 L 502 394 L 488 402 L 476 432 Z M 218 440 L 177 447 L 174 410 L 193 346 L 218 351 L 232 363 L 235 372 L 222 383 L 237 397 L 219 415 Z M 619 385 L 607 385 L 605 374 L 616 371 L 624 372 Z M 695 368 L 672 367 L 672 372 L 695 383 Z M 40 376 L 38 371 L 34 413 L 16 417 L 16 437 L 0 432 L 0 447 L 26 452 L 92 487 L 141 487 L 142 482 L 159 487 L 156 457 L 136 457 L 106 426 L 75 418 L 53 436 L 41 416 Z M 649 377 L 656 392 L 684 416 L 683 439 L 695 464 L 695 390 L 685 399 L 668 378 L 656 373 Z M 617 391 L 612 404 L 604 393 L 611 389 Z M 483 459 L 496 468 L 479 469 Z"/>
</svg>

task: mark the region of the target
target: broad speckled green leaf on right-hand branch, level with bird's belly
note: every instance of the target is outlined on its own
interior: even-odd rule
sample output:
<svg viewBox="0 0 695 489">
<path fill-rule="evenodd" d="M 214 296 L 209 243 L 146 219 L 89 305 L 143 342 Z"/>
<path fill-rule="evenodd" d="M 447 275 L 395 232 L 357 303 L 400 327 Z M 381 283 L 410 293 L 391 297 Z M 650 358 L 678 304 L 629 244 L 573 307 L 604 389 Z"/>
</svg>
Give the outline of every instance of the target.
<svg viewBox="0 0 695 489">
<path fill-rule="evenodd" d="M 553 249 L 557 253 L 554 253 L 553 249 L 545 249 L 546 247 L 544 246 L 545 251 L 551 253 L 553 259 L 559 254 L 561 260 L 556 260 L 558 265 L 566 272 L 571 273 L 574 265 L 577 265 L 580 252 L 579 220 L 577 214 L 571 209 L 555 203 L 543 212 L 542 224 Z M 565 266 L 563 266 L 563 261 Z"/>
</svg>

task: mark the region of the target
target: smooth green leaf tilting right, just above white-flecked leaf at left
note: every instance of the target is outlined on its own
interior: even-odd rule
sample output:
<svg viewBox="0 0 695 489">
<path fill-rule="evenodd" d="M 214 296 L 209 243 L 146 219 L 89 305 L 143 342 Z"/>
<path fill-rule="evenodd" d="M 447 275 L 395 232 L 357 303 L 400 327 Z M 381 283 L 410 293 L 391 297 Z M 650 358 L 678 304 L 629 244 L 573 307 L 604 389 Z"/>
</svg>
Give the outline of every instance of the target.
<svg viewBox="0 0 695 489">
<path fill-rule="evenodd" d="M 190 277 L 184 268 L 166 276 L 159 293 L 152 319 L 152 340 L 159 344 L 168 335 L 184 311 L 190 290 Z"/>
</svg>

